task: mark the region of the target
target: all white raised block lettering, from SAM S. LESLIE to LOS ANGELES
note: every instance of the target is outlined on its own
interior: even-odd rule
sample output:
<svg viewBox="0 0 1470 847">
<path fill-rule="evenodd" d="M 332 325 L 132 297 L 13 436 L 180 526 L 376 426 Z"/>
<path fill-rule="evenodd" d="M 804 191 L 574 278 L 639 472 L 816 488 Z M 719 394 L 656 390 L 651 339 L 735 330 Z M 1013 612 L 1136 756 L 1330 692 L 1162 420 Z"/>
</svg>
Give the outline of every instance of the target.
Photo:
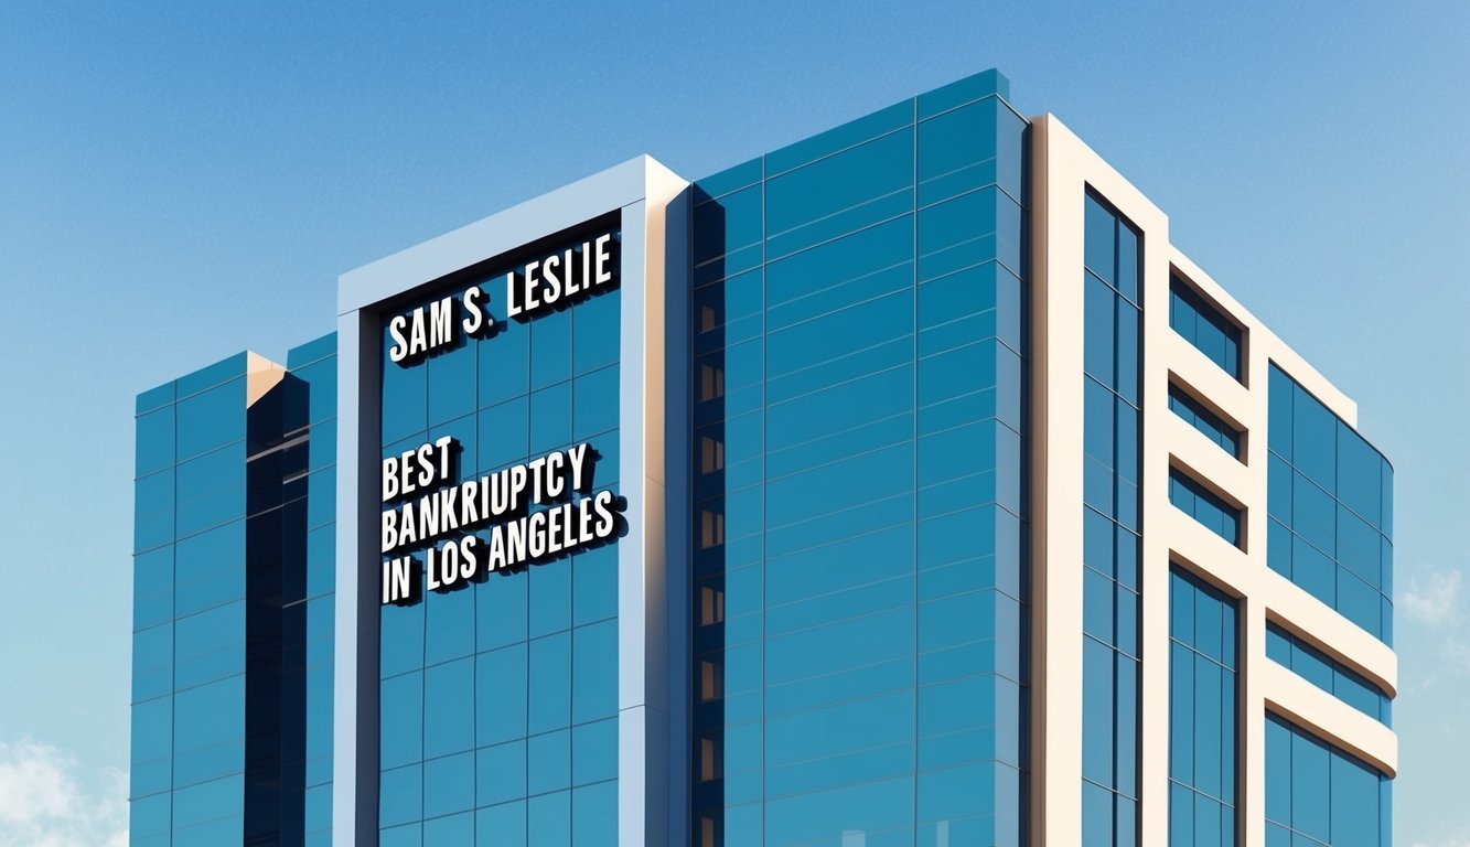
<svg viewBox="0 0 1470 847">
<path fill-rule="evenodd" d="M 612 232 L 526 262 L 506 274 L 500 312 L 529 321 L 570 306 L 616 287 L 617 265 Z M 491 335 L 490 303 L 482 285 L 470 285 L 394 315 L 388 359 L 410 368 L 465 337 Z M 616 540 L 623 503 L 594 485 L 600 454 L 591 444 L 465 481 L 460 453 L 444 435 L 382 460 L 384 604 L 417 600 L 420 572 L 431 591 L 445 591 Z"/>
</svg>

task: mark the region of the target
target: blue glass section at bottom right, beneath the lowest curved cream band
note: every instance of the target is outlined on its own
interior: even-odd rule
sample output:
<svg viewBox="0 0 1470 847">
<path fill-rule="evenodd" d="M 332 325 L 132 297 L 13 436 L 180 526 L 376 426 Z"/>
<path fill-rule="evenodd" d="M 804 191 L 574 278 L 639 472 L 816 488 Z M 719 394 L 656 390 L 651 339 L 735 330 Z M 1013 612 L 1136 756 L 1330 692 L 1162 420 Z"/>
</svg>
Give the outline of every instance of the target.
<svg viewBox="0 0 1470 847">
<path fill-rule="evenodd" d="M 1354 756 L 1266 715 L 1267 847 L 1392 844 L 1392 787 Z"/>
</svg>

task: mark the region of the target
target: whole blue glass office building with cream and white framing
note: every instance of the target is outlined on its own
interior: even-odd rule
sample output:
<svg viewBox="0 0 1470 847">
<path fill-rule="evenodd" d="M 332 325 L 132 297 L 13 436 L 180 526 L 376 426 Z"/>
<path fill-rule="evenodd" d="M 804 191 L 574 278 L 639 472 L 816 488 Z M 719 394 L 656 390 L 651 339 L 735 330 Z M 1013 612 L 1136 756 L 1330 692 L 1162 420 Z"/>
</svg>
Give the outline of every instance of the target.
<svg viewBox="0 0 1470 847">
<path fill-rule="evenodd" d="M 626 162 L 141 394 L 134 844 L 1388 844 L 1392 469 L 1008 97 Z"/>
</svg>

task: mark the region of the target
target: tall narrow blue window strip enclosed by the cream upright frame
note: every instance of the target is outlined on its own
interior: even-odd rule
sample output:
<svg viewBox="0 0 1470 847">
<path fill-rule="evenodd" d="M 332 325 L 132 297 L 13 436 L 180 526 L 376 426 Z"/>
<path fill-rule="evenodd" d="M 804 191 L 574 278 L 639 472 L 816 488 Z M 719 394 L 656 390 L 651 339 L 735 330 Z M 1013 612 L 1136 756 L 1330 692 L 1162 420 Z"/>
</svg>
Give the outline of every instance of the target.
<svg viewBox="0 0 1470 847">
<path fill-rule="evenodd" d="M 1138 843 L 1142 241 L 1083 216 L 1082 844 Z"/>
</svg>

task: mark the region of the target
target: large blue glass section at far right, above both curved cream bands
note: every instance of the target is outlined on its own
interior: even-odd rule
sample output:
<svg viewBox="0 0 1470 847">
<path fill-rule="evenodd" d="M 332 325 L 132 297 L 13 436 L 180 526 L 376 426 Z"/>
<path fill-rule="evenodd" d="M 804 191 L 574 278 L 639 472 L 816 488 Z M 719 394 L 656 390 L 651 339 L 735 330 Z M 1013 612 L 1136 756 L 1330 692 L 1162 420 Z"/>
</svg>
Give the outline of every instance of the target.
<svg viewBox="0 0 1470 847">
<path fill-rule="evenodd" d="M 1270 368 L 1267 565 L 1394 643 L 1394 468 Z"/>
</svg>

